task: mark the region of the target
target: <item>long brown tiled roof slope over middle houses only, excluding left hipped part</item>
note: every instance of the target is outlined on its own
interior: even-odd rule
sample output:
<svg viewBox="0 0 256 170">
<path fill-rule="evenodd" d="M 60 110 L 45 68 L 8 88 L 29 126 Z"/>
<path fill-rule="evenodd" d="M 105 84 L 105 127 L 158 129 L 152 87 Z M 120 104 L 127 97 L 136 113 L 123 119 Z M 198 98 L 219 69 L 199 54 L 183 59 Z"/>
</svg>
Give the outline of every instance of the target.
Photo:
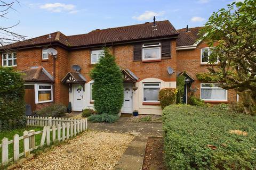
<svg viewBox="0 0 256 170">
<path fill-rule="evenodd" d="M 178 32 L 168 20 L 158 21 L 156 25 L 157 27 L 152 27 L 153 22 L 149 22 L 94 30 L 83 35 L 68 36 L 68 42 L 71 46 L 82 46 L 178 35 Z"/>
</svg>

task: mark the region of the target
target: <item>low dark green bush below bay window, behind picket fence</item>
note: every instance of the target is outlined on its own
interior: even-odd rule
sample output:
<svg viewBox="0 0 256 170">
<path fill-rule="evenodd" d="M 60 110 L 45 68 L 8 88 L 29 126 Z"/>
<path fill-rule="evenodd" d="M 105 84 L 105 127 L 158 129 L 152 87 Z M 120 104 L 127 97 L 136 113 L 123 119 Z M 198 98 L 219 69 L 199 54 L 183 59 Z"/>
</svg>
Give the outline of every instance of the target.
<svg viewBox="0 0 256 170">
<path fill-rule="evenodd" d="M 52 104 L 46 106 L 41 110 L 36 112 L 37 116 L 46 116 L 46 117 L 62 117 L 65 116 L 67 112 L 67 107 L 63 104 Z"/>
</svg>

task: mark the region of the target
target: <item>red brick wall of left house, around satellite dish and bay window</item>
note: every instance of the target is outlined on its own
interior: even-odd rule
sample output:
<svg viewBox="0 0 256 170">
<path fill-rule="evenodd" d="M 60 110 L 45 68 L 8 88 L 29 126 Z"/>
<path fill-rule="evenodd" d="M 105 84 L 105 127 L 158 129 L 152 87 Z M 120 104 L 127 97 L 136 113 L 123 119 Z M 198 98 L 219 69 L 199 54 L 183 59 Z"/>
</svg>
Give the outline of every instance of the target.
<svg viewBox="0 0 256 170">
<path fill-rule="evenodd" d="M 55 47 L 58 51 L 57 60 L 55 60 L 55 83 L 53 84 L 53 101 L 63 103 L 66 106 L 69 102 L 68 87 L 61 84 L 61 80 L 69 70 L 68 51 L 61 47 Z M 2 55 L 1 55 L 2 56 Z M 2 64 L 2 57 L 1 57 Z M 17 52 L 17 66 L 15 70 L 25 70 L 30 66 L 43 66 L 53 76 L 53 57 L 49 60 L 42 60 L 42 48 L 19 50 Z M 52 102 L 36 104 L 36 110 L 49 106 Z"/>
</svg>

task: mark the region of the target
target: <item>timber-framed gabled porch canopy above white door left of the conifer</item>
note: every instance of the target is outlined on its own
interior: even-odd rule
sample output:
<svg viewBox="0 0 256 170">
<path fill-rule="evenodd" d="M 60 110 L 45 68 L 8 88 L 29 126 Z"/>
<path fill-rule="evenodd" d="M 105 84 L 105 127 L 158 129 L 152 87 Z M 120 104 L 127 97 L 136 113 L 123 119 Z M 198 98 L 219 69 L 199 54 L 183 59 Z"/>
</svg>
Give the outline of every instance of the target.
<svg viewBox="0 0 256 170">
<path fill-rule="evenodd" d="M 74 73 L 74 72 L 68 72 L 65 77 L 61 80 L 62 84 L 67 84 L 69 87 L 69 91 L 72 91 L 72 84 L 80 84 L 83 87 L 84 91 L 84 84 L 86 82 L 86 79 L 83 77 L 81 73 Z"/>
</svg>

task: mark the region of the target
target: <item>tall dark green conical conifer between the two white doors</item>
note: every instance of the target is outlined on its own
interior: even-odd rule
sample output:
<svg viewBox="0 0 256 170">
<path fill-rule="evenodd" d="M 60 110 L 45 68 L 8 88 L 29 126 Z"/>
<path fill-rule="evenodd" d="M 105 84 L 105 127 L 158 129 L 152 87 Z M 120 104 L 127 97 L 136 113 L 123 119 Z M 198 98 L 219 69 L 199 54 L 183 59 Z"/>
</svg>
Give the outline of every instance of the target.
<svg viewBox="0 0 256 170">
<path fill-rule="evenodd" d="M 99 115 L 117 115 L 123 105 L 123 75 L 108 48 L 105 48 L 104 54 L 91 71 L 91 78 L 94 80 L 94 108 Z M 101 117 L 106 119 L 106 116 Z"/>
</svg>

